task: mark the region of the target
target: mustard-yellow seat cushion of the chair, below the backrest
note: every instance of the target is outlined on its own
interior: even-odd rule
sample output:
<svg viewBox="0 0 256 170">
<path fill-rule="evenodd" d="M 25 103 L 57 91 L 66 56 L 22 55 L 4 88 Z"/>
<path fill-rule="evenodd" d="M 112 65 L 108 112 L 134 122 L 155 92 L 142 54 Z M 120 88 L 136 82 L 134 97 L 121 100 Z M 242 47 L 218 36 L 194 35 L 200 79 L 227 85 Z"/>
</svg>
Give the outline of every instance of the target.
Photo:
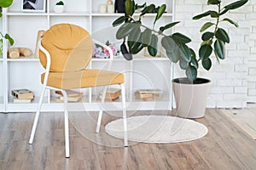
<svg viewBox="0 0 256 170">
<path fill-rule="evenodd" d="M 45 73 L 41 75 L 44 83 Z M 125 82 L 122 73 L 104 70 L 82 70 L 71 72 L 49 72 L 47 86 L 61 89 L 90 88 Z"/>
</svg>

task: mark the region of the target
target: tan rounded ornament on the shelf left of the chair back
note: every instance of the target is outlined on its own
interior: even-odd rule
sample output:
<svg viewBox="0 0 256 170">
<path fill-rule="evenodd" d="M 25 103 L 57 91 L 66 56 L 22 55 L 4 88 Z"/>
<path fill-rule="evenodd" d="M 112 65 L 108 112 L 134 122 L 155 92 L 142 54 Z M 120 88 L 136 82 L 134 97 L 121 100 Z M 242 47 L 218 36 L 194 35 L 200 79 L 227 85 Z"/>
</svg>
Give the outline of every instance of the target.
<svg viewBox="0 0 256 170">
<path fill-rule="evenodd" d="M 10 59 L 18 59 L 20 56 L 30 56 L 32 54 L 32 50 L 30 48 L 9 48 L 8 54 Z"/>
</svg>

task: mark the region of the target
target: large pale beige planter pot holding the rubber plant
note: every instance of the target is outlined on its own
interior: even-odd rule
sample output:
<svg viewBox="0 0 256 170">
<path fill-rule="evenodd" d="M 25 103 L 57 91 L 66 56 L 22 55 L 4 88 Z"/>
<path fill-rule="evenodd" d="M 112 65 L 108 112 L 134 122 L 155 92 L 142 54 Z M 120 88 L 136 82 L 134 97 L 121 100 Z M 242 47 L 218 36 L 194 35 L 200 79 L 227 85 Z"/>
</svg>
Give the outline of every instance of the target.
<svg viewBox="0 0 256 170">
<path fill-rule="evenodd" d="M 201 118 L 205 116 L 207 96 L 211 81 L 197 78 L 194 84 L 188 78 L 172 80 L 172 88 L 177 108 L 177 116 L 184 118 Z"/>
</svg>

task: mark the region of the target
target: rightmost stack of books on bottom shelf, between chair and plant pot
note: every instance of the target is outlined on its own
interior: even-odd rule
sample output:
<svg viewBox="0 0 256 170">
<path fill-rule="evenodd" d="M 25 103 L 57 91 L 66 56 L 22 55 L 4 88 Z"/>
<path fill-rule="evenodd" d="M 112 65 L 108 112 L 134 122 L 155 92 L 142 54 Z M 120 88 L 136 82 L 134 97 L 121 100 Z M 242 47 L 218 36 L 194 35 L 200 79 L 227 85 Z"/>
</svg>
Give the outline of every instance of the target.
<svg viewBox="0 0 256 170">
<path fill-rule="evenodd" d="M 135 92 L 136 99 L 142 99 L 143 101 L 150 101 L 160 99 L 162 91 L 160 89 L 138 89 Z"/>
</svg>

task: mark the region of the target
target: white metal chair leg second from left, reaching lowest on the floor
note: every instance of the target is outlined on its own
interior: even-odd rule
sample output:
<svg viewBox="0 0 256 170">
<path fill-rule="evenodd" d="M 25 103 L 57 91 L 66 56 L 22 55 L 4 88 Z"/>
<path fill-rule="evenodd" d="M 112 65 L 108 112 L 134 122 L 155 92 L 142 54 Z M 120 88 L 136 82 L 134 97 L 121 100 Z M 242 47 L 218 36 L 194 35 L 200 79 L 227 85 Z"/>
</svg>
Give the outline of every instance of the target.
<svg viewBox="0 0 256 170">
<path fill-rule="evenodd" d="M 69 158 L 69 133 L 68 133 L 68 112 L 67 112 L 67 93 L 65 90 L 62 90 L 62 94 L 64 97 L 64 128 L 65 128 L 65 150 L 66 157 Z"/>
</svg>

